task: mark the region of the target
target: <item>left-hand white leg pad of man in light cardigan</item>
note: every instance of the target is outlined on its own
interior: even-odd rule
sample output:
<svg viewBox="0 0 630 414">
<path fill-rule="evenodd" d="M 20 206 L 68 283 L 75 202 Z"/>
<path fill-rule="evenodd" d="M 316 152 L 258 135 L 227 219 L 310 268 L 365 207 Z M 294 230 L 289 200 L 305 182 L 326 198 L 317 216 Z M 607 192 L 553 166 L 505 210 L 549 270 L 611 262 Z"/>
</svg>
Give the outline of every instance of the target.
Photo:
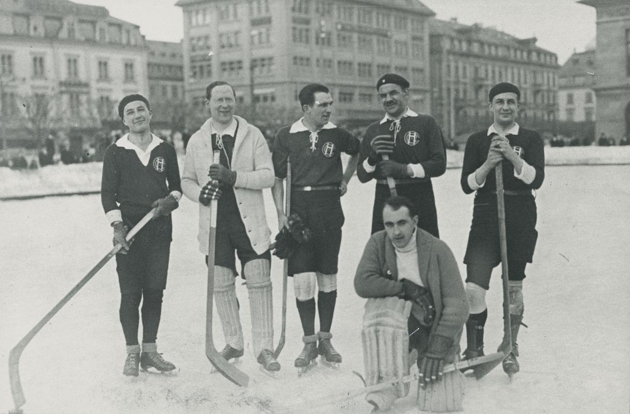
<svg viewBox="0 0 630 414">
<path fill-rule="evenodd" d="M 238 314 L 234 272 L 222 266 L 214 267 L 214 302 L 221 320 L 226 343 L 235 349 L 243 349 L 243 328 Z"/>
</svg>

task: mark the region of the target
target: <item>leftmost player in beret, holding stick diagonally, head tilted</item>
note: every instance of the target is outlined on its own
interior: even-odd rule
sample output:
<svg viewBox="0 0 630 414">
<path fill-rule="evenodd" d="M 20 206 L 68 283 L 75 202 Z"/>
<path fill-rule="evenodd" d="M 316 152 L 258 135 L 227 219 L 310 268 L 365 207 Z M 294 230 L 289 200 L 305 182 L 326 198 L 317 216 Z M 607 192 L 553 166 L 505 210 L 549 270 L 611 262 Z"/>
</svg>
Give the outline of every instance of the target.
<svg viewBox="0 0 630 414">
<path fill-rule="evenodd" d="M 180 170 L 175 149 L 151 134 L 151 109 L 142 95 L 128 95 L 118 105 L 118 115 L 129 128 L 105 151 L 101 202 L 113 227 L 114 244 L 123 248 L 116 255 L 120 285 L 120 323 L 127 359 L 123 374 L 138 376 L 138 366 L 173 371 L 175 365 L 157 353 L 157 328 L 166 288 L 171 232 L 171 212 L 181 198 Z M 157 207 L 154 219 L 142 227 L 134 243 L 127 231 Z M 138 343 L 142 301 L 142 354 Z"/>
</svg>

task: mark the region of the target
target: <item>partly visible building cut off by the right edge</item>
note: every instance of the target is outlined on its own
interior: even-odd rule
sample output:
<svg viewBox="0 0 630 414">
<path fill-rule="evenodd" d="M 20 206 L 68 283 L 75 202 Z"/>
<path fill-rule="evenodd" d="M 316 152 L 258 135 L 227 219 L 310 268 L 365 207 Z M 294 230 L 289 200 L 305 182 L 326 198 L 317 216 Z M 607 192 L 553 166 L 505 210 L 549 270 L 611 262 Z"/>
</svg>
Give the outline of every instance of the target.
<svg viewBox="0 0 630 414">
<path fill-rule="evenodd" d="M 597 10 L 595 136 L 617 141 L 630 134 L 630 3 L 581 0 Z"/>
</svg>

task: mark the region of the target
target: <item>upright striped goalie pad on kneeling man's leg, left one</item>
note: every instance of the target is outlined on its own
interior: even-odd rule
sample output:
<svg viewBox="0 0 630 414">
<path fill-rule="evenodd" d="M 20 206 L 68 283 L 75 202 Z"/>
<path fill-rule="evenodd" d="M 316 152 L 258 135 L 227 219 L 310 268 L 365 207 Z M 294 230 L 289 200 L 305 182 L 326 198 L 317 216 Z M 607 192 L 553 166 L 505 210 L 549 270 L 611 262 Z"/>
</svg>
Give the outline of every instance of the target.
<svg viewBox="0 0 630 414">
<path fill-rule="evenodd" d="M 363 360 L 367 386 L 409 374 L 407 319 L 411 302 L 398 297 L 370 298 L 363 317 Z M 397 397 L 409 393 L 409 383 L 394 386 Z"/>
</svg>

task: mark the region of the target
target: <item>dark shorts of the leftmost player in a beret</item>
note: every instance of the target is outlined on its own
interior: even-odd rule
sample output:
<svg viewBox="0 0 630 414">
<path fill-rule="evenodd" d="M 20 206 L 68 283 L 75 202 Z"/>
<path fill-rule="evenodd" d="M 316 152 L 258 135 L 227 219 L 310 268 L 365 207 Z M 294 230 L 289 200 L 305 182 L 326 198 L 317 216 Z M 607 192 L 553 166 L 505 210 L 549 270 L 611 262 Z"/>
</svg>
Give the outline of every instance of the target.
<svg viewBox="0 0 630 414">
<path fill-rule="evenodd" d="M 121 293 L 140 292 L 143 288 L 166 289 L 172 229 L 170 216 L 149 221 L 135 235 L 129 252 L 116 255 Z"/>
</svg>

